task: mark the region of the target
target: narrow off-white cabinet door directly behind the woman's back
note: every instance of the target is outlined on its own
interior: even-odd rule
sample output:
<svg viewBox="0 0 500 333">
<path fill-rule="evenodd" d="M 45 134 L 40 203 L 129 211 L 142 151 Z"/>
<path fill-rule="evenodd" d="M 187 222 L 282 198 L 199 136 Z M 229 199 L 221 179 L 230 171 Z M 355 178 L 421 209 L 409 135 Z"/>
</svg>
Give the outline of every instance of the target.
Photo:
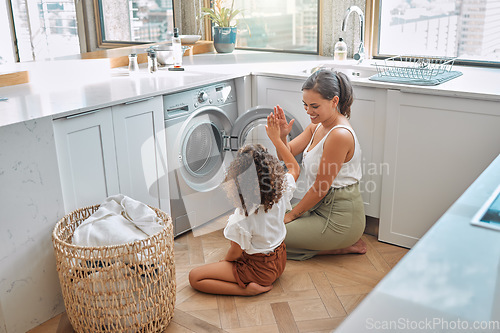
<svg viewBox="0 0 500 333">
<path fill-rule="evenodd" d="M 385 89 L 355 86 L 350 123 L 361 146 L 363 178 L 360 190 L 365 214 L 380 216 L 382 174 L 388 172 L 383 163 L 386 96 Z"/>
</svg>

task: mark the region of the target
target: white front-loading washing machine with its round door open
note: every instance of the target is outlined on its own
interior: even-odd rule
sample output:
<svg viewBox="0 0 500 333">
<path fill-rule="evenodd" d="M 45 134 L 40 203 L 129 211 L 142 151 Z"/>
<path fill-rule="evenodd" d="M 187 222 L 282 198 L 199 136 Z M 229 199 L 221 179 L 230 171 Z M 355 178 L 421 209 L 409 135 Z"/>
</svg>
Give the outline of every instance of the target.
<svg viewBox="0 0 500 333">
<path fill-rule="evenodd" d="M 220 185 L 241 146 L 261 143 L 276 154 L 265 130 L 272 107 L 241 113 L 236 98 L 233 80 L 163 97 L 175 236 L 234 209 Z M 294 124 L 290 139 L 301 132 Z"/>
</svg>

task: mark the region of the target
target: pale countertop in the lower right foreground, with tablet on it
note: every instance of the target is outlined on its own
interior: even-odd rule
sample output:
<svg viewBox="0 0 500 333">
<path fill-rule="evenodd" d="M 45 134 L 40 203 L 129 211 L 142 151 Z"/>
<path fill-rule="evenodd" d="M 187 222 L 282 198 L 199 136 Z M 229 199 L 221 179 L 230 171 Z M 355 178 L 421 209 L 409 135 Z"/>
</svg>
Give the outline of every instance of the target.
<svg viewBox="0 0 500 333">
<path fill-rule="evenodd" d="M 336 332 L 499 332 L 500 231 L 470 224 L 499 184 L 500 155 Z"/>
</svg>

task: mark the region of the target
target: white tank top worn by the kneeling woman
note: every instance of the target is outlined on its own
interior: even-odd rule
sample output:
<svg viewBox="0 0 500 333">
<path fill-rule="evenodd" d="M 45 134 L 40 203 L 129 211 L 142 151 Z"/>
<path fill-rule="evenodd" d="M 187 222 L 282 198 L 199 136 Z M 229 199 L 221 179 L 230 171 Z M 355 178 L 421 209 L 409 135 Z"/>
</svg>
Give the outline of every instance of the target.
<svg viewBox="0 0 500 333">
<path fill-rule="evenodd" d="M 316 180 L 326 138 L 334 129 L 339 127 L 345 128 L 346 130 L 351 132 L 352 136 L 354 137 L 354 154 L 352 155 L 352 158 L 349 160 L 349 162 L 342 164 L 342 167 L 340 168 L 337 177 L 335 177 L 335 179 L 333 180 L 331 187 L 341 188 L 359 182 L 362 176 L 361 148 L 359 147 L 358 138 L 356 137 L 354 130 L 344 125 L 334 126 L 324 136 L 324 138 L 321 139 L 321 141 L 318 142 L 318 144 L 314 146 L 313 149 L 311 149 L 311 151 L 308 151 L 311 143 L 313 142 L 314 135 L 316 135 L 316 131 L 320 126 L 322 125 L 320 124 L 316 126 L 311 141 L 307 145 L 306 149 L 304 149 L 304 154 L 302 157 L 302 170 L 305 174 L 307 189 L 311 188 L 311 186 L 314 184 L 314 181 Z"/>
</svg>

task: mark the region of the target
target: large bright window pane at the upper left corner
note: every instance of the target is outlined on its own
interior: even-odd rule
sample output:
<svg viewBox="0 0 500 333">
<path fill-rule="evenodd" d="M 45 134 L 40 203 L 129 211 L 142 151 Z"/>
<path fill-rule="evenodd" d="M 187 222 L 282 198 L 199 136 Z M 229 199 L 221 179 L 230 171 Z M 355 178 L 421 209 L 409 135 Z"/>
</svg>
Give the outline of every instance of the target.
<svg viewBox="0 0 500 333">
<path fill-rule="evenodd" d="M 80 53 L 73 0 L 12 0 L 19 61 Z"/>
</svg>

